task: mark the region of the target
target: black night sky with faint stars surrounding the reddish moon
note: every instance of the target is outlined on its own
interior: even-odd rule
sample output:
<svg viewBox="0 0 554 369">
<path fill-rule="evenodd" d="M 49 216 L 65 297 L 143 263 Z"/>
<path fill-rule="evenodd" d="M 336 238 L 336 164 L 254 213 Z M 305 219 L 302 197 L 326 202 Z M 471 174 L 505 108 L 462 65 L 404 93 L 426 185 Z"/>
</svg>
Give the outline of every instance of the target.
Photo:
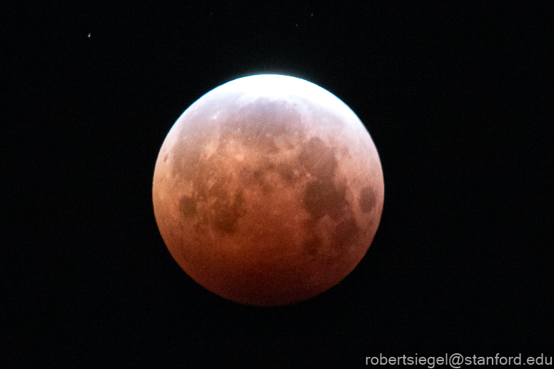
<svg viewBox="0 0 554 369">
<path fill-rule="evenodd" d="M 181 3 L 21 1 L 2 16 L 5 368 L 554 355 L 551 4 Z M 366 257 L 281 308 L 195 283 L 151 200 L 181 113 L 260 73 L 341 98 L 385 178 Z"/>
</svg>

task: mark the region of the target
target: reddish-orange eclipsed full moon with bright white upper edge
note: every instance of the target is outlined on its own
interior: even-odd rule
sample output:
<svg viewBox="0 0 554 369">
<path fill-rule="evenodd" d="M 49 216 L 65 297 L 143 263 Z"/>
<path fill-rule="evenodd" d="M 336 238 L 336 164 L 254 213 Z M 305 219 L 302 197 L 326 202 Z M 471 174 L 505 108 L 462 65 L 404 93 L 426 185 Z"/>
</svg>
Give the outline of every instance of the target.
<svg viewBox="0 0 554 369">
<path fill-rule="evenodd" d="M 308 300 L 351 273 L 381 221 L 381 161 L 358 116 L 291 76 L 223 84 L 161 146 L 153 209 L 183 271 L 246 305 Z"/>
</svg>

